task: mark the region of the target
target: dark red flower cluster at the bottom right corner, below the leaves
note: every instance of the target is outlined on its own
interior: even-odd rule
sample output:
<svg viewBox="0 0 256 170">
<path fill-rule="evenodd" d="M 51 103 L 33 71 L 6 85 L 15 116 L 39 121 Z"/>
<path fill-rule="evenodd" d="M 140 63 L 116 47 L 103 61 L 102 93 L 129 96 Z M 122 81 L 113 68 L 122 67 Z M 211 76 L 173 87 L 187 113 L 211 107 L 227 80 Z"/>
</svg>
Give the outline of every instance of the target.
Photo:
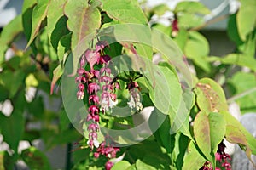
<svg viewBox="0 0 256 170">
<path fill-rule="evenodd" d="M 229 160 L 231 160 L 231 157 L 229 154 L 224 152 L 225 149 L 225 144 L 223 141 L 218 144 L 218 150 L 217 153 L 215 154 L 215 159 L 221 164 L 221 167 L 224 167 L 225 170 L 231 170 L 231 164 Z M 216 170 L 221 170 L 221 168 L 216 167 Z M 206 161 L 203 165 L 203 167 L 200 168 L 200 170 L 213 170 L 212 164 L 209 161 Z"/>
</svg>

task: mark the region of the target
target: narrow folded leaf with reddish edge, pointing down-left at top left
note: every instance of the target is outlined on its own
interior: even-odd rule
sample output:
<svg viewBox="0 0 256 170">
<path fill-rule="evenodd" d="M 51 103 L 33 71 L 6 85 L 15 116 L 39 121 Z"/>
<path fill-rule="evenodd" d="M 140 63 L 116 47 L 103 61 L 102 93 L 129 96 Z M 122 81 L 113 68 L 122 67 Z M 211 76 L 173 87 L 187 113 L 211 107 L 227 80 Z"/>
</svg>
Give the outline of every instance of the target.
<svg viewBox="0 0 256 170">
<path fill-rule="evenodd" d="M 38 4 L 33 8 L 32 12 L 32 31 L 29 41 L 26 44 L 26 48 L 33 42 L 35 37 L 38 36 L 42 21 L 45 19 L 50 0 L 38 0 Z"/>
</svg>

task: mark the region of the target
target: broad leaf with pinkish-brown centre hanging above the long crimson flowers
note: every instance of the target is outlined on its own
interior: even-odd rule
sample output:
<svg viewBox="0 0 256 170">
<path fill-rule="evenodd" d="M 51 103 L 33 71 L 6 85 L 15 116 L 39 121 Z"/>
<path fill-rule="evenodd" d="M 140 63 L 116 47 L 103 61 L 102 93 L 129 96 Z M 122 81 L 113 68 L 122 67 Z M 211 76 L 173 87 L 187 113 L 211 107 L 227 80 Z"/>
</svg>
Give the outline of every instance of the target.
<svg viewBox="0 0 256 170">
<path fill-rule="evenodd" d="M 67 0 L 64 7 L 67 16 L 67 28 L 73 31 L 71 49 L 73 50 L 73 71 L 76 71 L 79 57 L 89 48 L 90 41 L 101 26 L 101 14 L 97 6 L 88 5 L 84 0 Z M 85 38 L 90 35 L 90 38 Z M 79 46 L 80 48 L 76 48 Z M 75 49 L 76 48 L 76 49 Z"/>
</svg>

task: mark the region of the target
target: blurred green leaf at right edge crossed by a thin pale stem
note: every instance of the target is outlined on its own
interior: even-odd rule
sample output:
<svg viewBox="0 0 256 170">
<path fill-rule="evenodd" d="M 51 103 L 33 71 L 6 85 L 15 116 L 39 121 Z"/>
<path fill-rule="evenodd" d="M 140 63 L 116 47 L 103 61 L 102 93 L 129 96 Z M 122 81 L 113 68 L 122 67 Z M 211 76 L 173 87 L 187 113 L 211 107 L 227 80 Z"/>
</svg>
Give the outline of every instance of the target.
<svg viewBox="0 0 256 170">
<path fill-rule="evenodd" d="M 241 94 L 249 89 L 256 87 L 256 77 L 253 73 L 237 72 L 229 82 L 236 89 L 236 94 Z M 235 94 L 235 95 L 236 95 Z M 256 91 L 236 99 L 236 103 L 240 105 L 241 112 L 246 113 L 256 111 Z"/>
</svg>

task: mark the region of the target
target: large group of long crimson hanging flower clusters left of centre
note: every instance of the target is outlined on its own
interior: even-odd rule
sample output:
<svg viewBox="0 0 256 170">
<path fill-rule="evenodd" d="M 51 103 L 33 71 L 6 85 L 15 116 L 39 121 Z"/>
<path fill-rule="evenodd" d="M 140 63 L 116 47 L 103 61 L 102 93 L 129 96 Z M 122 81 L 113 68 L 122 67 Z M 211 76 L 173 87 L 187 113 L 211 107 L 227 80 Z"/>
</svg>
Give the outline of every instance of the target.
<svg viewBox="0 0 256 170">
<path fill-rule="evenodd" d="M 101 144 L 98 139 L 98 132 L 100 130 L 100 112 L 102 113 L 112 111 L 113 107 L 117 105 L 116 94 L 114 90 L 119 88 L 119 83 L 113 82 L 113 75 L 111 69 L 108 68 L 111 58 L 104 54 L 103 49 L 108 47 L 108 42 L 97 42 L 96 49 L 88 49 L 81 57 L 79 62 L 79 69 L 77 71 L 78 77 L 76 82 L 78 83 L 77 99 L 84 99 L 84 91 L 89 94 L 88 98 L 88 115 L 86 121 L 90 122 L 87 127 L 89 132 L 87 144 L 90 149 L 98 148 L 95 152 L 95 157 L 99 155 L 108 156 L 108 158 L 114 158 L 118 148 L 108 146 L 105 141 Z M 85 71 L 85 64 L 90 64 L 90 71 Z M 95 65 L 102 67 L 100 70 L 96 70 Z M 85 90 L 87 88 L 87 90 Z M 110 169 L 113 166 L 111 161 L 106 163 L 106 169 Z"/>
</svg>

